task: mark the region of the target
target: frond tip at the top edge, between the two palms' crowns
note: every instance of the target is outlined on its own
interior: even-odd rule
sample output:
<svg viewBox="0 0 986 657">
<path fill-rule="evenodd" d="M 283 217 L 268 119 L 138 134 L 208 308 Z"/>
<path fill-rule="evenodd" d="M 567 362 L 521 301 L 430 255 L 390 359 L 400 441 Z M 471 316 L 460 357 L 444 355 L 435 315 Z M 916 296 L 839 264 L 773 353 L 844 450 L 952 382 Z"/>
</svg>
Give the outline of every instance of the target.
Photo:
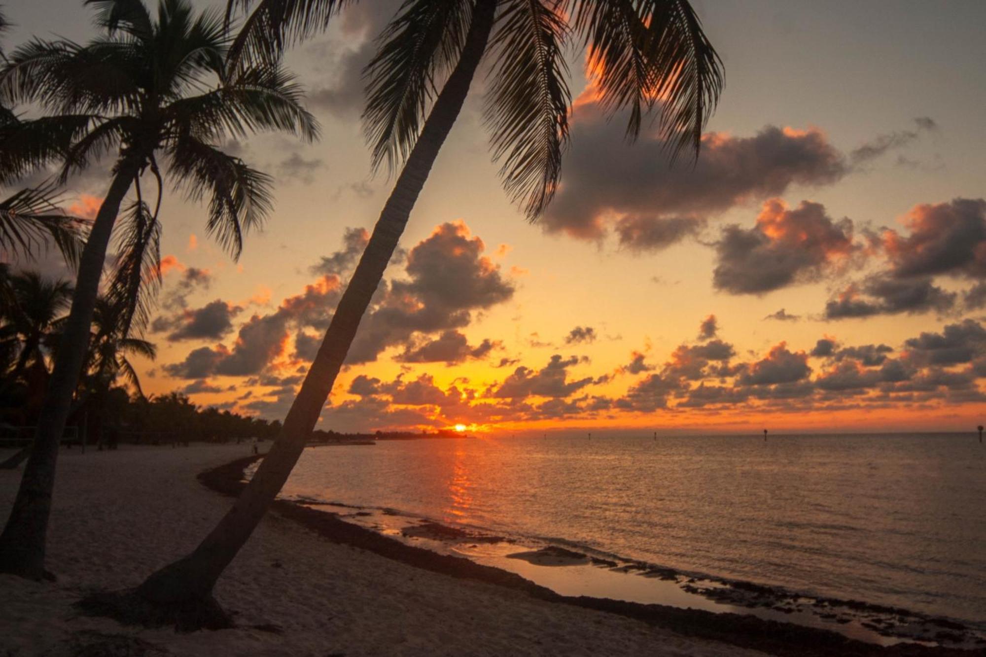
<svg viewBox="0 0 986 657">
<path fill-rule="evenodd" d="M 276 62 L 291 45 L 323 31 L 333 16 L 355 0 L 260 0 L 230 44 L 230 70 Z M 226 24 L 246 13 L 253 0 L 227 0 Z"/>
</svg>

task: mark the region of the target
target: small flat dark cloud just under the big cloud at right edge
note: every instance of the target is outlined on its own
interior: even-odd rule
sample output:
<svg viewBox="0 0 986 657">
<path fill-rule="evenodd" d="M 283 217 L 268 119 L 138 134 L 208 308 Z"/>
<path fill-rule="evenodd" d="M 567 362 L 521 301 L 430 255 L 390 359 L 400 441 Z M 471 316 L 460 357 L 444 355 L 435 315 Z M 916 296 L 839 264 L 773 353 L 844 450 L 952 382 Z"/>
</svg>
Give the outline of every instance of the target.
<svg viewBox="0 0 986 657">
<path fill-rule="evenodd" d="M 956 295 L 946 292 L 929 277 L 895 279 L 886 274 L 868 278 L 862 287 L 850 285 L 825 304 L 826 320 L 866 318 L 874 315 L 946 313 Z"/>
</svg>

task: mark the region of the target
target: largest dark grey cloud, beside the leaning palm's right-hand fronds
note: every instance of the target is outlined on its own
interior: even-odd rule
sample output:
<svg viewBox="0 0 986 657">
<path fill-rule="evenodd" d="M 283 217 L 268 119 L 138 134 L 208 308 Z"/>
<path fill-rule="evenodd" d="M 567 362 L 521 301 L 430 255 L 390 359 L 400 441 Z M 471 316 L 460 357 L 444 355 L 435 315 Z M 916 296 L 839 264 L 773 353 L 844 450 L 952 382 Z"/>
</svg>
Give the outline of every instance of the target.
<svg viewBox="0 0 986 657">
<path fill-rule="evenodd" d="M 752 137 L 709 133 L 694 166 L 669 166 L 656 131 L 620 148 L 624 127 L 598 104 L 581 104 L 561 185 L 542 220 L 549 233 L 584 240 L 615 224 L 620 243 L 644 250 L 693 234 L 700 222 L 737 205 L 784 193 L 792 184 L 841 179 L 848 167 L 820 131 L 766 126 Z"/>
</svg>

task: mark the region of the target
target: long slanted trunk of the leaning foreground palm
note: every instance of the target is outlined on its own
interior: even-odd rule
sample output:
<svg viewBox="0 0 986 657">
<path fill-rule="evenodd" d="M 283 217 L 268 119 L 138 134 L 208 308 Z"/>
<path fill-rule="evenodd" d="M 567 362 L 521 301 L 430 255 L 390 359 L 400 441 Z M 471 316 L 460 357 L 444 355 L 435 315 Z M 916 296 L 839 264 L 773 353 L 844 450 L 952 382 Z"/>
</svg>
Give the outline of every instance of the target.
<svg viewBox="0 0 986 657">
<path fill-rule="evenodd" d="M 315 361 L 270 452 L 212 533 L 191 554 L 152 574 L 137 589 L 137 594 L 145 600 L 157 604 L 181 604 L 210 598 L 216 580 L 246 543 L 291 474 L 315 429 L 360 320 L 384 278 L 387 262 L 397 247 L 418 194 L 456 123 L 486 50 L 495 10 L 496 0 L 478 0 L 476 3 L 456 69 L 435 101 L 387 198 L 366 251 L 335 309 Z"/>
</svg>

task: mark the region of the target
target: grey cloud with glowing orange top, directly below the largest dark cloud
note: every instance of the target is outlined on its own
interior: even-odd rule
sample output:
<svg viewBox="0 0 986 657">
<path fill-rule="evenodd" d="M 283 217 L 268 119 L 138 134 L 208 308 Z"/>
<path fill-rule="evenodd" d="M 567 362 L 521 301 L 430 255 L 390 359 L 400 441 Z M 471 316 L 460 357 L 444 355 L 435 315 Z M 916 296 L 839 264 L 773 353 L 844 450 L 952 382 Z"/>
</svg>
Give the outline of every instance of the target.
<svg viewBox="0 0 986 657">
<path fill-rule="evenodd" d="M 753 228 L 723 229 L 713 285 L 731 294 L 763 294 L 815 281 L 854 251 L 848 218 L 833 221 L 820 203 L 802 201 L 790 209 L 773 198 L 763 204 Z"/>
</svg>

